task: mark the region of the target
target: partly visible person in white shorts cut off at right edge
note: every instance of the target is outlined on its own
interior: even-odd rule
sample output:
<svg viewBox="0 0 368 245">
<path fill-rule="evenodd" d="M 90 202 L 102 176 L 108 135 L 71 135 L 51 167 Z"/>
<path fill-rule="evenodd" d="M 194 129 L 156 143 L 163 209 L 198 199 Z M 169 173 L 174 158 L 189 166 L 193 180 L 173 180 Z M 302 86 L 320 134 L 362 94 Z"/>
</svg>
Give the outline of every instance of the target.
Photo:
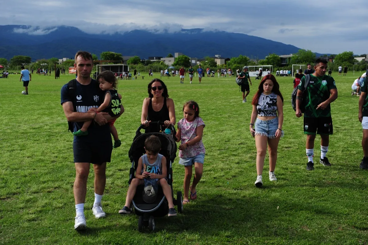
<svg viewBox="0 0 368 245">
<path fill-rule="evenodd" d="M 364 78 L 362 85 L 360 87 L 360 98 L 359 98 L 359 121 L 362 123 L 363 127 L 363 139 L 362 139 L 362 148 L 364 157 L 362 162 L 360 163 L 360 168 L 368 169 L 368 80 L 367 77 Z"/>
</svg>

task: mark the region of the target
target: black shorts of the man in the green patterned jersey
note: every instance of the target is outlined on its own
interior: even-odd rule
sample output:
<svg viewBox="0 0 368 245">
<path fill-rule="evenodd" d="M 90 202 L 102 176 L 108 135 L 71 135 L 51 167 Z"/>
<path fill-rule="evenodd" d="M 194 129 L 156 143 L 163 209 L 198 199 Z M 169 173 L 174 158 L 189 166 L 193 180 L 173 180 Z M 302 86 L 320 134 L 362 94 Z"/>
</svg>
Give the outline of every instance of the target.
<svg viewBox="0 0 368 245">
<path fill-rule="evenodd" d="M 306 118 L 304 117 L 304 133 L 305 134 L 332 134 L 332 118 Z"/>
</svg>

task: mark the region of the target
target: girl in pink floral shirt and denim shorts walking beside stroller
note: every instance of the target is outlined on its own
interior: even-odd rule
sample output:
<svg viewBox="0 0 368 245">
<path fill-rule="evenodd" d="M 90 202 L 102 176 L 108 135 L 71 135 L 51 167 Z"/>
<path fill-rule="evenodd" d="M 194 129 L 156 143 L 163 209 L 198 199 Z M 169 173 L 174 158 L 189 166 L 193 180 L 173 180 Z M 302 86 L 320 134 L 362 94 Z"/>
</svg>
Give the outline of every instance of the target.
<svg viewBox="0 0 368 245">
<path fill-rule="evenodd" d="M 203 162 L 205 159 L 205 147 L 202 143 L 203 129 L 205 123 L 199 117 L 199 106 L 195 101 L 188 101 L 183 106 L 184 118 L 178 122 L 176 133 L 177 142 L 181 141 L 179 146 L 179 164 L 185 167 L 184 176 L 184 199 L 183 204 L 190 200 L 197 199 L 197 190 L 195 189 L 203 172 Z M 192 178 L 192 166 L 195 168 L 195 175 Z M 190 197 L 188 192 L 190 191 Z"/>
</svg>

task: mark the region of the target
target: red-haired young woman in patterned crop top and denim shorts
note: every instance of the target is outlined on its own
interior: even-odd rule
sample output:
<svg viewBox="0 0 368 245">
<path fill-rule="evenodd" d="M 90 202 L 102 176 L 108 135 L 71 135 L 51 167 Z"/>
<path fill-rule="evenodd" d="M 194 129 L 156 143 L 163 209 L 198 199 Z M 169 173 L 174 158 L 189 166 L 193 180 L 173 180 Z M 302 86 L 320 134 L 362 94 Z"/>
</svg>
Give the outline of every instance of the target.
<svg viewBox="0 0 368 245">
<path fill-rule="evenodd" d="M 255 146 L 257 148 L 257 179 L 254 183 L 257 187 L 263 185 L 262 171 L 267 144 L 270 164 L 269 179 L 270 181 L 277 181 L 274 172 L 277 160 L 277 146 L 279 145 L 280 137 L 284 134 L 282 131 L 284 120 L 282 106 L 284 99 L 279 88 L 280 86 L 276 78 L 272 74 L 266 75 L 259 84 L 258 91 L 252 101 L 253 111 L 249 129 L 252 136 L 255 137 Z M 255 129 L 253 129 L 253 125 Z"/>
</svg>

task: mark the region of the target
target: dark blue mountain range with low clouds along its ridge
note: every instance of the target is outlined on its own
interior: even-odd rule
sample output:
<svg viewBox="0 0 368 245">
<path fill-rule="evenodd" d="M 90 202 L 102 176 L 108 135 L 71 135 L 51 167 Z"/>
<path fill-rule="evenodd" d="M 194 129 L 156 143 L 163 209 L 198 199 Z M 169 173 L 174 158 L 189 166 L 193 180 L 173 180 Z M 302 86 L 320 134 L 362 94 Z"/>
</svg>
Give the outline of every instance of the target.
<svg viewBox="0 0 368 245">
<path fill-rule="evenodd" d="M 99 56 L 104 51 L 124 56 L 163 56 L 180 52 L 202 58 L 219 54 L 222 57 L 245 55 L 264 59 L 269 53 L 288 55 L 299 48 L 247 34 L 204 29 L 181 29 L 178 32 L 133 30 L 115 34 L 88 34 L 70 26 L 30 27 L 0 25 L 0 57 L 31 56 L 32 61 L 51 57 L 74 57 L 78 50 Z M 317 54 L 319 56 L 320 54 Z"/>
</svg>

